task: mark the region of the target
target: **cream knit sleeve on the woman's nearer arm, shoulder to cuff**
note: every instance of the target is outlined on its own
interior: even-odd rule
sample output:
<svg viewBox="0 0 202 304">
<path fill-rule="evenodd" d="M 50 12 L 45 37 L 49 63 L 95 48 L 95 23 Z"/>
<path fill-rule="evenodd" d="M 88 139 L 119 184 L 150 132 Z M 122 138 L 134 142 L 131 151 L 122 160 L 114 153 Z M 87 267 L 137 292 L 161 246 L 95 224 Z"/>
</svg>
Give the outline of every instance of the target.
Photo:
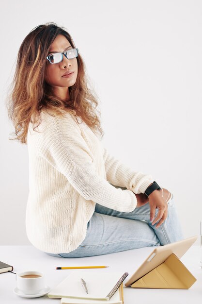
<svg viewBox="0 0 202 304">
<path fill-rule="evenodd" d="M 92 151 L 71 115 L 49 118 L 49 123 L 43 128 L 40 154 L 68 179 L 85 200 L 117 211 L 131 212 L 135 209 L 137 199 L 132 191 L 116 188 L 98 176 Z"/>
</svg>

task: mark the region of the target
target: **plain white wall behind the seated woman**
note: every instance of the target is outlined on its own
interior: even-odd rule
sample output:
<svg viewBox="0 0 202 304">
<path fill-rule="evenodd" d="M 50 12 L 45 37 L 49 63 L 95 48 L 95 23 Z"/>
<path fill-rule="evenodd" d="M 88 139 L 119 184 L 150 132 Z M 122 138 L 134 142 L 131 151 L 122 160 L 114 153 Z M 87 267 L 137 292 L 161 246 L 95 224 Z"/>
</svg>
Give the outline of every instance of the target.
<svg viewBox="0 0 202 304">
<path fill-rule="evenodd" d="M 174 194 L 186 237 L 202 219 L 202 1 L 6 0 L 0 9 L 0 245 L 25 231 L 28 150 L 9 140 L 5 97 L 25 36 L 72 35 L 100 99 L 103 145 Z"/>
</svg>

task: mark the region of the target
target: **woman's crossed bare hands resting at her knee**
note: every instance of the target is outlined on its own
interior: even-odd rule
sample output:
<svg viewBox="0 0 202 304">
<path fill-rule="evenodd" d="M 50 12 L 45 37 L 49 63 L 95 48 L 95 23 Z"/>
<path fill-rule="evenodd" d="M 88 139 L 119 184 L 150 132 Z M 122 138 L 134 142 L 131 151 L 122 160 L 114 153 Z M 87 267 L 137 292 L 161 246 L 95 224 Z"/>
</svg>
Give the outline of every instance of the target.
<svg viewBox="0 0 202 304">
<path fill-rule="evenodd" d="M 162 197 L 163 194 L 163 197 Z M 149 202 L 150 204 L 150 220 L 153 221 L 155 217 L 155 209 L 158 209 L 158 214 L 155 218 L 155 220 L 152 222 L 152 225 L 154 225 L 158 220 L 158 224 L 156 225 L 156 228 L 158 228 L 167 218 L 168 216 L 168 204 L 166 201 L 168 201 L 171 197 L 170 191 L 163 188 L 161 190 L 155 190 L 153 191 L 149 196 L 147 196 L 144 193 L 135 194 L 137 198 L 137 206 L 141 207 Z"/>
</svg>

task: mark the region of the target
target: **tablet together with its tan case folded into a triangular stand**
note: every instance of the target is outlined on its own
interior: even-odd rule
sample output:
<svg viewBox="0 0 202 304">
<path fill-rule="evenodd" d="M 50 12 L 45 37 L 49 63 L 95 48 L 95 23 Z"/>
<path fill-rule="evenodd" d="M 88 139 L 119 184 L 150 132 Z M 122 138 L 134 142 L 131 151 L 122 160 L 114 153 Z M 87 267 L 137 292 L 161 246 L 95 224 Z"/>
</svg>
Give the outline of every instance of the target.
<svg viewBox="0 0 202 304">
<path fill-rule="evenodd" d="M 196 278 L 179 260 L 197 236 L 158 246 L 125 283 L 134 288 L 177 288 L 188 289 Z"/>
</svg>

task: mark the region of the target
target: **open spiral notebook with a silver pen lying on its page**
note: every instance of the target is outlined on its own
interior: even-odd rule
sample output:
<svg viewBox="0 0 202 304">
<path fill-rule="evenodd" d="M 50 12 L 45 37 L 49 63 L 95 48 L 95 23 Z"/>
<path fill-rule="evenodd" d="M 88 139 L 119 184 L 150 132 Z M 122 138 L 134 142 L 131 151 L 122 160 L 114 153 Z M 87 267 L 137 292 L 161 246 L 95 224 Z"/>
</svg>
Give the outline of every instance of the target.
<svg viewBox="0 0 202 304">
<path fill-rule="evenodd" d="M 123 272 L 75 271 L 50 290 L 47 296 L 49 298 L 109 301 L 127 276 L 127 272 L 123 274 Z M 88 293 L 81 285 L 81 278 L 86 282 Z"/>
</svg>

